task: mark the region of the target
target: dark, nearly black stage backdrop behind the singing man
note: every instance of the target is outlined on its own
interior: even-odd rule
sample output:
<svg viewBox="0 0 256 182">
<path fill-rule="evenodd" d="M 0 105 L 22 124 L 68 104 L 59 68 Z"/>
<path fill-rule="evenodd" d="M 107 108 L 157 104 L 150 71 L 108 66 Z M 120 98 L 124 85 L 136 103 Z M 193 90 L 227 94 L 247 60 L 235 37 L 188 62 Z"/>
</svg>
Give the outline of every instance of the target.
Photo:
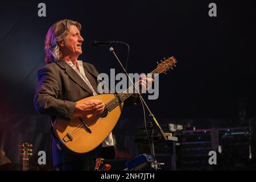
<svg viewBox="0 0 256 182">
<path fill-rule="evenodd" d="M 40 2 L 46 3 L 46 17 L 38 16 Z M 211 2 L 217 5 L 217 17 L 208 15 Z M 176 57 L 177 67 L 160 75 L 158 100 L 147 101 L 160 124 L 196 120 L 204 128 L 240 125 L 241 111 L 246 118 L 256 112 L 255 14 L 255 1 L 248 0 L 1 1 L 1 149 L 14 163 L 20 163 L 22 140 L 34 142 L 35 151 L 49 150 L 47 117 L 36 113 L 33 97 L 36 71 L 45 64 L 46 33 L 60 19 L 82 24 L 80 59 L 99 72 L 120 69 L 108 47 L 93 48 L 92 40 L 128 43 L 130 73 L 151 72 L 156 61 Z M 114 48 L 125 64 L 126 47 Z M 131 150 L 134 129 L 142 125 L 141 105 L 123 111 L 114 129 L 122 150 Z M 131 146 L 124 144 L 127 140 Z"/>
</svg>

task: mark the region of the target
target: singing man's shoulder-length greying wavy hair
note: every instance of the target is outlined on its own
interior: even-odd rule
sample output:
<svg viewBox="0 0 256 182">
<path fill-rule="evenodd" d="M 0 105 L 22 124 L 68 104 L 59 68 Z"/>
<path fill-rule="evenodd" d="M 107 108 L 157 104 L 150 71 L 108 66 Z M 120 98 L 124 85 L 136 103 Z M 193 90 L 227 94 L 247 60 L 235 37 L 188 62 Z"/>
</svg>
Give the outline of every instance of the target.
<svg viewBox="0 0 256 182">
<path fill-rule="evenodd" d="M 59 61 L 62 53 L 60 51 L 59 42 L 64 40 L 67 36 L 69 29 L 72 25 L 75 25 L 79 31 L 81 30 L 81 24 L 79 22 L 64 19 L 54 23 L 46 34 L 46 63 L 52 63 L 53 61 Z"/>
</svg>

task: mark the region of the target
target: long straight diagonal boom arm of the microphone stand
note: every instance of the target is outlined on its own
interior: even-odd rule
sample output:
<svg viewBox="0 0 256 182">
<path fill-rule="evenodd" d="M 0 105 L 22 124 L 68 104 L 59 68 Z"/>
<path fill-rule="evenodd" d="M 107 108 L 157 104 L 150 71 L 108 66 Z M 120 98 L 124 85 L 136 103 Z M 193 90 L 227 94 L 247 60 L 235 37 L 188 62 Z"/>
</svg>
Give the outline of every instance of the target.
<svg viewBox="0 0 256 182">
<path fill-rule="evenodd" d="M 123 67 L 121 61 L 118 59 L 117 55 L 115 54 L 114 48 L 113 48 L 113 47 L 110 47 L 110 48 L 109 48 L 109 51 L 113 53 L 115 59 L 118 61 L 120 67 L 123 69 L 123 72 L 124 72 L 124 73 L 126 74 L 126 76 L 129 78 L 129 80 L 130 80 L 131 83 L 133 84 L 134 88 L 138 91 L 137 86 L 135 86 L 135 84 L 134 84 L 133 81 L 131 80 L 130 76 L 129 76 L 128 73 L 126 72 L 125 68 Z M 139 93 L 139 92 L 138 92 L 138 93 Z M 167 137 L 166 137 L 166 135 L 164 135 L 163 130 L 162 130 L 161 126 L 159 125 L 158 121 L 156 121 L 156 118 L 155 118 L 154 114 L 152 114 L 151 110 L 148 108 L 146 102 L 144 101 L 143 97 L 141 96 L 141 93 L 139 93 L 139 97 L 141 98 L 142 104 L 144 104 L 144 105 L 146 106 L 148 112 L 150 113 L 150 117 L 153 119 L 153 121 L 154 121 L 156 127 L 158 128 L 158 130 L 159 130 L 160 134 L 162 135 L 162 137 L 164 138 L 164 140 L 168 140 Z"/>
</svg>

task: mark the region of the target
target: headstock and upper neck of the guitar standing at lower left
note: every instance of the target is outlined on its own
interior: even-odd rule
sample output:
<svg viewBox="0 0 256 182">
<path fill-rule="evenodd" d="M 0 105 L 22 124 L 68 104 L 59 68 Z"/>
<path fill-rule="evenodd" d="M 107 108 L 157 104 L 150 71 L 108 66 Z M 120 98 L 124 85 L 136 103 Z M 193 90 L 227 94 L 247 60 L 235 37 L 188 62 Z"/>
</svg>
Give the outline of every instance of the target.
<svg viewBox="0 0 256 182">
<path fill-rule="evenodd" d="M 21 142 L 19 144 L 20 155 L 22 155 L 22 171 L 30 170 L 30 156 L 32 155 L 33 145 L 29 142 Z"/>
</svg>

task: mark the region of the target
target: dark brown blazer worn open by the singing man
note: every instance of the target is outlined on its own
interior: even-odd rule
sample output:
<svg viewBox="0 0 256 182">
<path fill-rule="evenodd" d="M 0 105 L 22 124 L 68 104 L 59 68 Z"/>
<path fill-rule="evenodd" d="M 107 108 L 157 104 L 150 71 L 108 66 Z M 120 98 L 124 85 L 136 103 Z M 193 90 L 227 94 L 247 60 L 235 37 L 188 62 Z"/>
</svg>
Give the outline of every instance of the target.
<svg viewBox="0 0 256 182">
<path fill-rule="evenodd" d="M 85 76 L 97 92 L 98 72 L 96 68 L 89 63 L 83 63 L 83 65 Z M 93 96 L 92 90 L 85 84 L 84 80 L 63 60 L 47 64 L 40 68 L 38 71 L 38 80 L 39 85 L 34 97 L 36 110 L 41 114 L 51 115 L 53 119 L 56 117 L 67 120 L 71 119 L 75 110 L 75 102 L 82 98 Z M 136 103 L 137 96 L 131 97 L 129 102 Z M 52 139 L 52 164 L 56 166 L 63 162 L 72 162 L 85 158 L 98 158 L 101 154 L 114 157 L 113 147 L 104 147 L 104 151 L 110 151 L 111 154 L 104 155 L 101 144 L 86 154 L 72 154 L 63 148 L 60 150 L 56 140 Z"/>
</svg>

